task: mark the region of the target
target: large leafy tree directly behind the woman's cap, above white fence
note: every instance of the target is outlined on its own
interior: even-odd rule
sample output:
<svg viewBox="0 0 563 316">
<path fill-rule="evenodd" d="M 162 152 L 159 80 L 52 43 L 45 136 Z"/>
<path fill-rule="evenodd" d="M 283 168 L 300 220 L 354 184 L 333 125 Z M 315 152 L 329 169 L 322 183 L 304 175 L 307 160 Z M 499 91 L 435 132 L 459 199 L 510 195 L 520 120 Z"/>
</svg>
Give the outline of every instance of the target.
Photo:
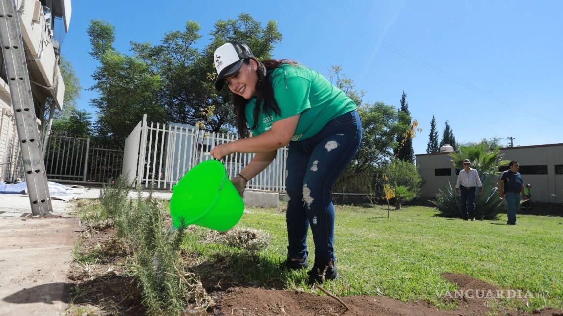
<svg viewBox="0 0 563 316">
<path fill-rule="evenodd" d="M 258 59 L 271 58 L 282 35 L 275 21 L 262 26 L 248 13 L 218 20 L 210 33 L 211 42 L 203 49 L 196 47 L 199 31 L 198 23 L 187 21 L 184 30 L 164 34 L 157 46 L 132 42 L 132 51 L 162 77 L 159 95 L 169 121 L 191 125 L 203 122 L 213 132 L 229 130 L 236 125 L 231 92 L 226 88 L 215 90 L 213 51 L 227 41 L 235 41 L 248 44 Z"/>
</svg>

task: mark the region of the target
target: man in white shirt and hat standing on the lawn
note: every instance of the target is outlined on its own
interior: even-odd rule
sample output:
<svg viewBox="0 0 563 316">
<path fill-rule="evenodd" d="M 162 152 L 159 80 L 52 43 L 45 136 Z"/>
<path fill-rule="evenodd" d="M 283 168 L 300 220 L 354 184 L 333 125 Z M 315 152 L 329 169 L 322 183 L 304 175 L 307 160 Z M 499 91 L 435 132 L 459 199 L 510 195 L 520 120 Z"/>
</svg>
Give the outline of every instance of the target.
<svg viewBox="0 0 563 316">
<path fill-rule="evenodd" d="M 479 187 L 479 195 L 483 193 L 483 184 L 477 170 L 470 167 L 471 161 L 463 160 L 463 170 L 459 171 L 455 192 L 461 195 L 461 213 L 463 220 L 475 220 L 475 187 Z"/>
</svg>

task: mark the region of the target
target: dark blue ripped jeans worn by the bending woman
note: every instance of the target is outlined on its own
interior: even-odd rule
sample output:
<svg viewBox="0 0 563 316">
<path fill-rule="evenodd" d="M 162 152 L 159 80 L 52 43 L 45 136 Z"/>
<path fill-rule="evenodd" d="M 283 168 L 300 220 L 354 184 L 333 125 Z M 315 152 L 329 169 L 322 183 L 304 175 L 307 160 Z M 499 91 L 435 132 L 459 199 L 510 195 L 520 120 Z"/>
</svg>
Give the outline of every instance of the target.
<svg viewBox="0 0 563 316">
<path fill-rule="evenodd" d="M 286 220 L 288 258 L 307 256 L 309 226 L 315 242 L 315 260 L 336 261 L 334 206 L 330 193 L 338 176 L 358 152 L 361 122 L 357 111 L 329 121 L 315 136 L 289 143 Z"/>
</svg>

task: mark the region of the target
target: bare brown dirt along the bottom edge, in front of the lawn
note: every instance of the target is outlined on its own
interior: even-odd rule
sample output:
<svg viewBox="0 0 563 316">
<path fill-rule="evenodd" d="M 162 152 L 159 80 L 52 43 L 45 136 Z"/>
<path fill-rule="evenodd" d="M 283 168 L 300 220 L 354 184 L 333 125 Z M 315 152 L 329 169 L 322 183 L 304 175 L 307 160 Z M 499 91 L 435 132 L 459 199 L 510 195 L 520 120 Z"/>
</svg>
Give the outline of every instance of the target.
<svg viewBox="0 0 563 316">
<path fill-rule="evenodd" d="M 473 293 L 480 290 L 498 290 L 494 286 L 479 279 L 472 278 L 466 274 L 444 273 L 444 278 L 456 283 L 459 291 Z M 217 294 L 217 293 L 215 293 Z M 473 296 L 473 295 L 470 295 Z M 457 310 L 437 310 L 435 306 L 424 302 L 403 303 L 398 300 L 388 299 L 381 296 L 348 296 L 340 298 L 350 310 L 342 306 L 338 301 L 326 295 L 316 295 L 301 291 L 266 290 L 252 287 L 235 287 L 219 294 L 217 305 L 211 311 L 213 315 L 244 315 L 244 316 L 280 316 L 280 315 L 303 315 L 303 316 L 426 316 L 426 315 L 482 315 L 490 312 L 486 308 L 486 298 L 460 297 L 455 294 L 446 294 L 445 299 L 458 300 Z M 502 310 L 503 315 L 541 315 L 541 316 L 563 316 L 562 310 L 544 309 L 537 310 L 533 314 L 513 310 Z"/>
</svg>

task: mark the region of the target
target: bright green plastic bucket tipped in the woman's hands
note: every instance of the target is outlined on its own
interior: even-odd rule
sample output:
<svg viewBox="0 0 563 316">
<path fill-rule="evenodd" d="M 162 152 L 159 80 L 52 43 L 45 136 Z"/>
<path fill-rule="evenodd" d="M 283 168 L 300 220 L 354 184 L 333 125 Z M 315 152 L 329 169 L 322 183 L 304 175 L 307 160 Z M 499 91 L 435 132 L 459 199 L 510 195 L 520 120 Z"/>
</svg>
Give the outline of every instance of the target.
<svg viewBox="0 0 563 316">
<path fill-rule="evenodd" d="M 218 160 L 200 162 L 172 188 L 170 215 L 175 227 L 199 225 L 216 231 L 233 228 L 244 202 Z"/>
</svg>

